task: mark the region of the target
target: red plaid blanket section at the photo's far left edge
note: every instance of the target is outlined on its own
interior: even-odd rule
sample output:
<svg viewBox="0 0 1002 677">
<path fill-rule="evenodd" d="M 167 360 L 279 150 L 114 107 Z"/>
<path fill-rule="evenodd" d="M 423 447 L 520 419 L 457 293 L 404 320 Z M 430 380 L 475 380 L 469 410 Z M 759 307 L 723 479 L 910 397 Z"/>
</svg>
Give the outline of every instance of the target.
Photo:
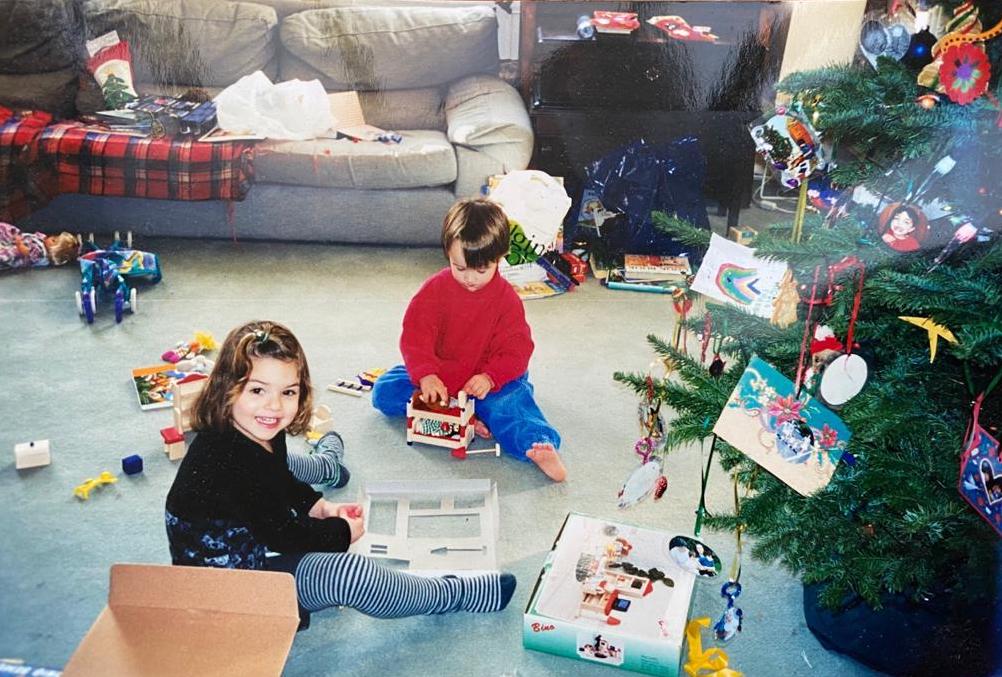
<svg viewBox="0 0 1002 677">
<path fill-rule="evenodd" d="M 36 161 L 38 135 L 52 120 L 43 112 L 15 115 L 0 106 L 0 220 L 39 209 L 55 194 L 55 177 Z"/>
</svg>

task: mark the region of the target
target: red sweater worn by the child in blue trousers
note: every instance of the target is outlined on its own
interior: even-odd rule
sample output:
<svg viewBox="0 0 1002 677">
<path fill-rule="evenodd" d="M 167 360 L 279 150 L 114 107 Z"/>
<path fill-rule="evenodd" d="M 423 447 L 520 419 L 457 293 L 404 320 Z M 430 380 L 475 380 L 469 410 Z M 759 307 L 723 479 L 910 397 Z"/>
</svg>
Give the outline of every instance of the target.
<svg viewBox="0 0 1002 677">
<path fill-rule="evenodd" d="M 434 374 L 455 395 L 486 374 L 497 392 L 522 376 L 532 357 L 525 308 L 511 284 L 494 273 L 470 291 L 444 268 L 425 280 L 404 313 L 400 352 L 411 381 Z"/>
</svg>

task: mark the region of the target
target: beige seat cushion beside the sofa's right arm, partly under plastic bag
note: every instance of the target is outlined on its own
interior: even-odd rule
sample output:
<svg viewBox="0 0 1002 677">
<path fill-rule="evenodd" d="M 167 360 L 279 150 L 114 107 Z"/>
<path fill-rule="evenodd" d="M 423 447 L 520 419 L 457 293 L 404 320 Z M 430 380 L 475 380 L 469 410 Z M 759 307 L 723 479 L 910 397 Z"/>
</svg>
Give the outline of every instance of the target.
<svg viewBox="0 0 1002 677">
<path fill-rule="evenodd" d="M 416 188 L 456 180 L 456 153 L 441 131 L 398 130 L 400 143 L 347 139 L 258 144 L 259 183 L 333 188 Z"/>
</svg>

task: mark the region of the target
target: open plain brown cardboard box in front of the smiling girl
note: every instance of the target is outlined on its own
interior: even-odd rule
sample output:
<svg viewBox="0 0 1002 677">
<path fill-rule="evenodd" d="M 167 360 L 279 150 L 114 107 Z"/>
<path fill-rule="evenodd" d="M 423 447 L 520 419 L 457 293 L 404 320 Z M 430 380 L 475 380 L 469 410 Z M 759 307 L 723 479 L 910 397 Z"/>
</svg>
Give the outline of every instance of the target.
<svg viewBox="0 0 1002 677">
<path fill-rule="evenodd" d="M 280 675 L 298 625 L 290 574 L 115 564 L 63 674 Z"/>
</svg>

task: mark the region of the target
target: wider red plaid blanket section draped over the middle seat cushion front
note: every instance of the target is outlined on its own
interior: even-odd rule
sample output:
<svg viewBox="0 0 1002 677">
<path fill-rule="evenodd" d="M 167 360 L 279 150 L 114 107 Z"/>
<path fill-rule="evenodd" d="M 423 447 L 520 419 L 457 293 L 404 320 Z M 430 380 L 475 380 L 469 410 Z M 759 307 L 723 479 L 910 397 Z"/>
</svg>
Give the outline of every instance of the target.
<svg viewBox="0 0 1002 677">
<path fill-rule="evenodd" d="M 79 122 L 38 138 L 38 161 L 59 192 L 176 200 L 241 200 L 254 178 L 254 145 L 115 134 Z"/>
</svg>

